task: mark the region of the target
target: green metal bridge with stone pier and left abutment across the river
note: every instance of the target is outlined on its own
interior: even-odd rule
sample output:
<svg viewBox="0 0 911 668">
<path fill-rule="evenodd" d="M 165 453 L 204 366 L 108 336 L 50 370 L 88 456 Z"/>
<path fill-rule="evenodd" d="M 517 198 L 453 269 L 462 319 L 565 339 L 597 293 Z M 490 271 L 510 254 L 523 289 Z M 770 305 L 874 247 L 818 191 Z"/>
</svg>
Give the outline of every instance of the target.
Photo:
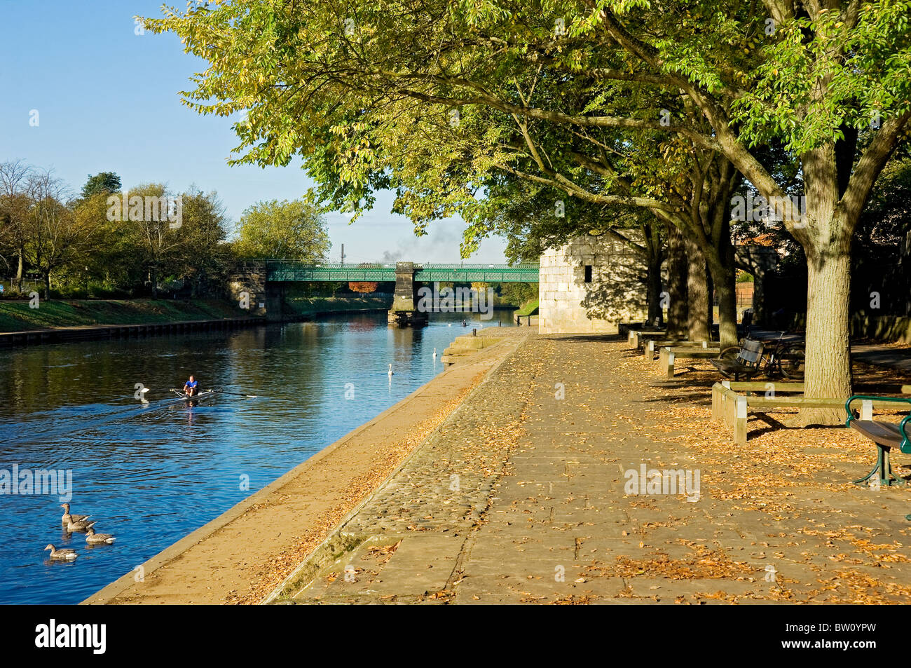
<svg viewBox="0 0 911 668">
<path fill-rule="evenodd" d="M 389 322 L 425 324 L 420 294 L 422 283 L 537 283 L 537 264 L 415 264 L 364 262 L 330 264 L 293 260 L 245 260 L 230 272 L 230 290 L 249 313 L 281 320 L 284 286 L 308 282 L 395 282 Z"/>
</svg>

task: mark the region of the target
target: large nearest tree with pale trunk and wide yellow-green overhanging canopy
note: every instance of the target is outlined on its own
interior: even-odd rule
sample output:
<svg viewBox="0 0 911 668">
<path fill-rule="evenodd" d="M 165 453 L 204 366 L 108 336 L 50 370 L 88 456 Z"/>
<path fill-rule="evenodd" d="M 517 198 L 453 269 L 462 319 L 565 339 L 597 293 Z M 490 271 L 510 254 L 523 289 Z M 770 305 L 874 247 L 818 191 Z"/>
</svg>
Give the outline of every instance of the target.
<svg viewBox="0 0 911 668">
<path fill-rule="evenodd" d="M 755 6 L 486 0 L 415 9 L 380 1 L 341 22 L 332 3 L 248 2 L 169 10 L 147 26 L 173 30 L 210 61 L 186 96 L 190 106 L 249 110 L 235 162 L 284 165 L 299 153 L 328 206 L 369 207 L 374 189 L 392 186 L 396 209 L 409 211 L 417 231 L 452 211 L 470 213 L 468 199 L 503 170 L 594 203 L 650 209 L 690 231 L 713 275 L 721 265 L 732 289 L 725 194 L 739 173 L 804 248 L 805 395 L 844 397 L 851 239 L 875 180 L 906 138 L 911 2 L 766 0 L 765 15 Z M 478 124 L 486 150 L 460 134 L 476 137 Z M 607 137 L 591 136 L 596 130 Z M 589 151 L 555 139 L 557 131 Z M 690 153 L 698 167 L 650 178 L 652 187 L 625 182 L 661 175 L 656 146 Z M 799 161 L 805 205 L 794 205 L 763 164 L 770 146 Z M 615 169 L 619 160 L 626 169 Z M 654 188 L 659 181 L 664 193 Z M 840 416 L 808 409 L 804 417 Z"/>
</svg>

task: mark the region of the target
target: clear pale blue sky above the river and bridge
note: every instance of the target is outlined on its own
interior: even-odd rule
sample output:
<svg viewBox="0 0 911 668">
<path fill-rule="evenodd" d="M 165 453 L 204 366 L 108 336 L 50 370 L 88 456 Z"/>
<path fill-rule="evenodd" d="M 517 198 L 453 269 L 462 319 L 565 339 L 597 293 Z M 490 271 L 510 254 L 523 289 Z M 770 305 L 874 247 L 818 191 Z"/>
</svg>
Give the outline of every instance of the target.
<svg viewBox="0 0 911 668">
<path fill-rule="evenodd" d="M 178 0 L 169 5 L 184 7 Z M 180 191 L 217 190 L 232 221 L 258 200 L 301 197 L 311 181 L 299 167 L 228 167 L 237 138 L 227 118 L 202 117 L 178 91 L 202 61 L 172 35 L 136 35 L 135 15 L 159 15 L 159 0 L 0 0 L 0 160 L 53 168 L 81 190 L 88 174 L 115 171 L 130 188 L 150 181 Z M 30 112 L 38 125 L 29 125 Z M 380 193 L 374 211 L 349 224 L 327 215 L 338 261 L 458 262 L 462 221 L 437 221 L 415 238 Z M 505 262 L 490 239 L 466 262 Z"/>
</svg>

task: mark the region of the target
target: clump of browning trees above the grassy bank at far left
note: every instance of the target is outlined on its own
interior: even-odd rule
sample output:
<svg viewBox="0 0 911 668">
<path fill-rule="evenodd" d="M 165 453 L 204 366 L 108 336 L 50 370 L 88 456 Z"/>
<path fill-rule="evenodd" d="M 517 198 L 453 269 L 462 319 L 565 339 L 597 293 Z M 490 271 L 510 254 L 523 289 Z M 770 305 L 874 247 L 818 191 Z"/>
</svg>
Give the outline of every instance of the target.
<svg viewBox="0 0 911 668">
<path fill-rule="evenodd" d="M 110 190 L 118 176 L 102 172 L 70 200 L 66 184 L 21 161 L 0 164 L 0 183 L 0 258 L 17 268 L 21 254 L 23 271 L 42 276 L 46 298 L 154 295 L 159 285 L 193 297 L 222 289 L 232 255 L 215 192 L 178 195 L 152 183 L 122 193 Z M 161 197 L 181 202 L 174 220 Z"/>
</svg>

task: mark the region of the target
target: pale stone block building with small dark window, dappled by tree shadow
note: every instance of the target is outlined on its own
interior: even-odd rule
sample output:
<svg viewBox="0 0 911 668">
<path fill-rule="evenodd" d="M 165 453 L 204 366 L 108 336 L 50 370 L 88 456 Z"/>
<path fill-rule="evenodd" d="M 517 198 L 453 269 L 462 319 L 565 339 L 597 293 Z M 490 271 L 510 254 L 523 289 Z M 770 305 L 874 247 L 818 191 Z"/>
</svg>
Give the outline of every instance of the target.
<svg viewBox="0 0 911 668">
<path fill-rule="evenodd" d="M 634 231 L 627 236 L 640 242 Z M 606 234 L 586 234 L 562 248 L 548 249 L 540 262 L 541 334 L 615 333 L 620 322 L 645 319 L 646 266 L 627 244 Z"/>
</svg>

